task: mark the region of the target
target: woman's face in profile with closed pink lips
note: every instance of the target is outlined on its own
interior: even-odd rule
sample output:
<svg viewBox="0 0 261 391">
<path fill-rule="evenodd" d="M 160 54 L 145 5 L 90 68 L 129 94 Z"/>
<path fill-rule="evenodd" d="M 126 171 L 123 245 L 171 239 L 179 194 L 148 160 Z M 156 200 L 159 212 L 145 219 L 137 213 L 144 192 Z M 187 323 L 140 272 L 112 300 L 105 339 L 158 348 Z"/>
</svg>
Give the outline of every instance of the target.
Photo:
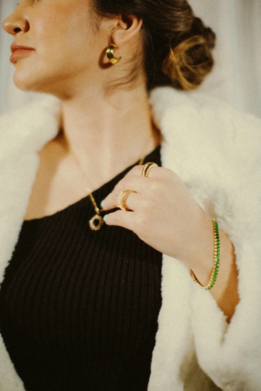
<svg viewBox="0 0 261 391">
<path fill-rule="evenodd" d="M 82 78 L 100 82 L 109 28 L 95 31 L 89 7 L 90 0 L 20 1 L 3 22 L 14 43 L 34 49 L 14 62 L 18 88 L 62 94 Z"/>
</svg>

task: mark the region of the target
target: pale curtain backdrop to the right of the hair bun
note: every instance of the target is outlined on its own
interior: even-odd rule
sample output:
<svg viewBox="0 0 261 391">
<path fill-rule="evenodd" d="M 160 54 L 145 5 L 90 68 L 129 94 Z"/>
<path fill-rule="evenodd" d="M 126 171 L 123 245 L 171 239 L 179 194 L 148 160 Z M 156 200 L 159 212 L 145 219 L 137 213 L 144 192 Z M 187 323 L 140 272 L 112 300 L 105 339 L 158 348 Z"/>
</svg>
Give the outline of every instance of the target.
<svg viewBox="0 0 261 391">
<path fill-rule="evenodd" d="M 261 0 L 189 0 L 216 33 L 215 68 L 202 91 L 261 117 Z"/>
</svg>

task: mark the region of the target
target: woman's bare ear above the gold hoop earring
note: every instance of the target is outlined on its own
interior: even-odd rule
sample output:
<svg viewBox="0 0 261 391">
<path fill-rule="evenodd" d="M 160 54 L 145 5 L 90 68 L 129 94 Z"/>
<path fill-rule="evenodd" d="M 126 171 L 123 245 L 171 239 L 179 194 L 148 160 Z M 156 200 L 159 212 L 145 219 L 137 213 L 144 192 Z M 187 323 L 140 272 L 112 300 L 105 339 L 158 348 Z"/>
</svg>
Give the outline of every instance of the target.
<svg viewBox="0 0 261 391">
<path fill-rule="evenodd" d="M 142 22 L 143 20 L 135 15 L 120 15 L 116 26 L 110 32 L 111 41 L 120 47 L 138 33 Z"/>
</svg>

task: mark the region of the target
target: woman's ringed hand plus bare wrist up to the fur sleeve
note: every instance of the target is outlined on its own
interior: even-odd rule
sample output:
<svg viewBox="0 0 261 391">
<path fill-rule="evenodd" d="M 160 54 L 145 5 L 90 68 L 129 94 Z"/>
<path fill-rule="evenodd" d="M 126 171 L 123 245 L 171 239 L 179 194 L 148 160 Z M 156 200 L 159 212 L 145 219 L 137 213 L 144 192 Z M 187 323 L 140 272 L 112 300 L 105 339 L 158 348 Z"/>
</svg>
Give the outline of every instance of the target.
<svg viewBox="0 0 261 391">
<path fill-rule="evenodd" d="M 213 267 L 213 231 L 210 217 L 196 203 L 180 178 L 171 170 L 153 167 L 148 177 L 142 168 L 133 167 L 104 199 L 104 210 L 115 208 L 118 195 L 128 193 L 125 204 L 131 211 L 109 213 L 106 224 L 133 231 L 149 246 L 173 257 L 195 274 L 201 284 L 209 282 Z M 220 268 L 214 287 L 209 291 L 228 317 L 239 301 L 237 269 L 233 245 L 219 228 Z"/>
</svg>

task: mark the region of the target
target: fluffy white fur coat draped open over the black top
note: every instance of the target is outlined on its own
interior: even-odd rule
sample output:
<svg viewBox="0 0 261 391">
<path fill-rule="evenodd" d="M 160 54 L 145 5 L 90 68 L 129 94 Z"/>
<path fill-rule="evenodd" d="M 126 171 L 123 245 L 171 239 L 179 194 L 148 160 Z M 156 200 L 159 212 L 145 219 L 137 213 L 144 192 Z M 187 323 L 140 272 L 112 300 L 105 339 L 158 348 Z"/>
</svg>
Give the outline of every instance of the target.
<svg viewBox="0 0 261 391">
<path fill-rule="evenodd" d="M 227 325 L 188 268 L 163 255 L 148 391 L 261 391 L 261 121 L 172 87 L 154 88 L 149 99 L 164 137 L 162 166 L 234 245 L 240 302 Z M 26 212 L 37 151 L 56 135 L 59 111 L 50 97 L 0 117 L 0 281 Z M 0 391 L 22 390 L 0 340 Z"/>
</svg>

